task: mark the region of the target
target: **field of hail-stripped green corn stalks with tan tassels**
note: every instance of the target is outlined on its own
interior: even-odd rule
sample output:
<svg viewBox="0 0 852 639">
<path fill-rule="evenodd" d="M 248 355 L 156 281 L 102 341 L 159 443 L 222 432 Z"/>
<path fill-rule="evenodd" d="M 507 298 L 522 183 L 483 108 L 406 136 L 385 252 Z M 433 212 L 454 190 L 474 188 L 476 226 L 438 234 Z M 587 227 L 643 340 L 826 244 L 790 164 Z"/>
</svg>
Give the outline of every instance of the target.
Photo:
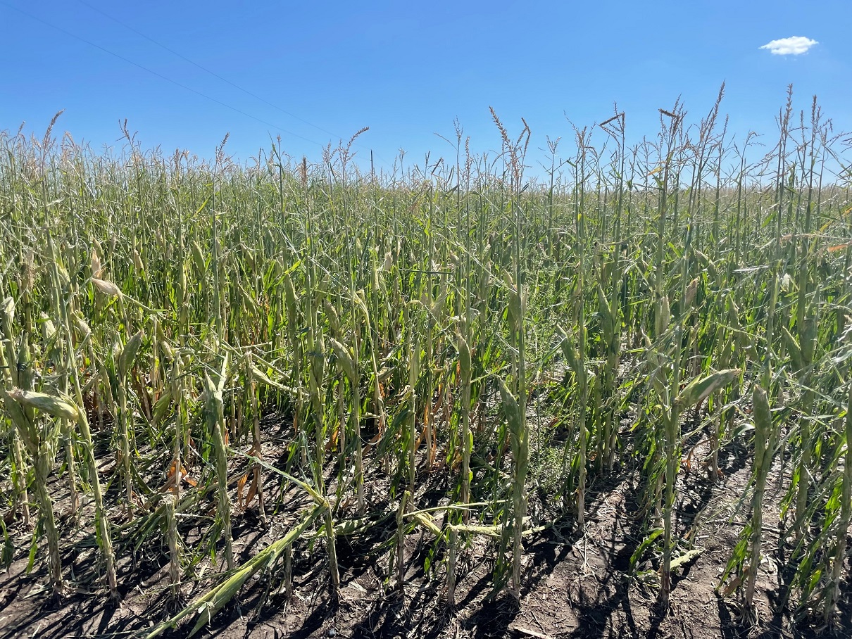
<svg viewBox="0 0 852 639">
<path fill-rule="evenodd" d="M 389 593 L 424 538 L 452 605 L 476 541 L 521 606 L 527 544 L 582 535 L 596 482 L 630 469 L 630 576 L 665 609 L 701 553 L 684 474 L 721 490 L 739 446 L 714 587 L 759 623 L 782 556 L 777 606 L 836 623 L 852 138 L 792 91 L 777 131 L 737 137 L 721 100 L 661 109 L 635 146 L 621 112 L 569 126 L 536 179 L 529 127 L 493 111 L 498 153 L 457 129 L 449 159 L 393 175 L 360 170 L 355 138 L 317 164 L 279 142 L 234 164 L 227 138 L 205 162 L 3 134 L 3 563 L 43 566 L 55 601 L 80 579 L 118 600 L 129 558 L 158 557 L 172 605 L 148 637 L 203 628 L 250 584 L 291 596 L 299 557 L 337 597 L 341 544 L 366 535 Z M 268 544 L 246 555 L 237 527 Z M 88 574 L 63 561 L 68 529 Z"/>
</svg>

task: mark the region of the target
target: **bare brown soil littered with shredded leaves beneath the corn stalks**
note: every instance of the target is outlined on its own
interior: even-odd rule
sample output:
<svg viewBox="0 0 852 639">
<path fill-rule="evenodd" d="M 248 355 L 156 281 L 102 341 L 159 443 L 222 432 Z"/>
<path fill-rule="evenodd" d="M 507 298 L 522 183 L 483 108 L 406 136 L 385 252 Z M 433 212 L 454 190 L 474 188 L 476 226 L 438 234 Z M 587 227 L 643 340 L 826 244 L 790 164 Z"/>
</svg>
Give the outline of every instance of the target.
<svg viewBox="0 0 852 639">
<path fill-rule="evenodd" d="M 273 442 L 273 439 L 268 439 Z M 273 445 L 271 445 L 273 446 Z M 282 451 L 270 448 L 272 460 Z M 700 454 L 700 451 L 699 453 Z M 823 629 L 807 621 L 792 624 L 784 596 L 784 562 L 779 545 L 782 532 L 777 516 L 780 494 L 777 481 L 770 481 L 764 521 L 766 560 L 757 579 L 757 625 L 740 623 L 736 600 L 717 596 L 716 586 L 741 529 L 736 504 L 745 491 L 750 472 L 746 451 L 733 444 L 722 451 L 723 477 L 715 485 L 703 471 L 682 472 L 678 481 L 678 531 L 692 531 L 694 548 L 700 556 L 676 575 L 671 607 L 662 614 L 656 606 L 659 576 L 650 561 L 640 561 L 631 574 L 630 559 L 642 541 L 636 496 L 636 469 L 617 469 L 601 478 L 590 475 L 587 498 L 588 521 L 578 531 L 573 521 L 561 522 L 528 539 L 525 575 L 520 606 L 505 589 L 493 593 L 494 546 L 482 538 L 469 538 L 460 554 L 460 583 L 456 606 L 446 605 L 443 562 L 435 557 L 432 569 L 424 570 L 432 539 L 419 529 L 406 538 L 406 584 L 395 588 L 389 573 L 395 523 L 378 476 L 367 481 L 374 510 L 374 526 L 360 536 L 339 536 L 338 561 L 341 590 L 333 599 L 325 567 L 325 550 L 308 544 L 294 550 L 294 591 L 289 601 L 266 578 L 245 585 L 210 625 L 198 636 L 236 637 L 659 637 L 659 639 L 709 639 L 710 637 L 787 637 L 834 634 L 852 636 L 852 606 L 849 583 L 843 584 L 840 617 L 834 628 Z M 379 464 L 368 464 L 375 475 Z M 109 470 L 105 469 L 105 474 Z M 267 474 L 269 475 L 269 474 Z M 777 472 L 775 473 L 777 478 Z M 448 472 L 439 470 L 418 480 L 422 492 L 418 504 L 429 503 L 430 495 L 445 495 Z M 370 479 L 370 478 L 368 478 Z M 444 482 L 442 484 L 442 482 Z M 279 479 L 266 478 L 268 528 L 263 528 L 255 509 L 235 513 L 234 552 L 237 563 L 282 536 L 296 521 L 307 502 L 285 489 L 281 498 Z M 55 494 L 64 488 L 53 486 Z M 108 497 L 117 492 L 112 488 Z M 276 494 L 278 492 L 278 494 Z M 535 498 L 531 498 L 534 502 Z M 61 499 L 57 498 L 57 504 Z M 286 504 L 286 505 L 285 505 Z M 534 509 L 535 504 L 531 504 Z M 91 511 L 83 509 L 83 521 Z M 59 509 L 59 508 L 58 508 Z M 168 593 L 168 556 L 165 544 L 146 544 L 133 550 L 117 544 L 118 582 L 122 602 L 107 602 L 96 574 L 95 542 L 90 525 L 78 527 L 62 519 L 63 568 L 68 582 L 66 596 L 59 602 L 46 589 L 47 574 L 43 548 L 39 548 L 31 573 L 27 549 L 32 530 L 20 521 L 9 522 L 9 533 L 17 553 L 9 569 L 0 573 L 0 639 L 13 637 L 118 637 L 135 636 L 166 619 L 175 605 Z M 181 531 L 199 538 L 201 528 Z M 194 569 L 195 579 L 183 584 L 183 602 L 215 584 L 216 570 L 210 562 Z M 266 590 L 270 590 L 266 593 Z M 268 594 L 268 596 L 266 596 Z M 263 601 L 262 607 L 258 602 Z M 187 636 L 192 623 L 181 625 L 164 636 Z"/>
</svg>

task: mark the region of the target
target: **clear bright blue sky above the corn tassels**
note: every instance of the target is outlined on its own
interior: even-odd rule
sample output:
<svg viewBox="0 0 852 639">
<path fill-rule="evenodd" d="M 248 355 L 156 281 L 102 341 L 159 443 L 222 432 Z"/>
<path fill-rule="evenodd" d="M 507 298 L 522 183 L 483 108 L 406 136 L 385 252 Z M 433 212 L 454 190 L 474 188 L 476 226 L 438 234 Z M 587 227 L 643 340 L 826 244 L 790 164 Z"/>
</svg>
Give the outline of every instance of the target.
<svg viewBox="0 0 852 639">
<path fill-rule="evenodd" d="M 638 140 L 678 96 L 697 121 L 725 81 L 730 130 L 770 143 L 788 83 L 797 108 L 816 94 L 838 129 L 852 129 L 849 24 L 849 0 L 0 0 L 0 130 L 26 121 L 42 134 L 64 108 L 57 128 L 95 149 L 120 147 L 127 118 L 146 148 L 211 157 L 229 132 L 227 152 L 245 160 L 281 135 L 285 152 L 318 160 L 321 145 L 369 126 L 358 158 L 372 149 L 388 166 L 400 148 L 406 164 L 429 150 L 453 156 L 435 133 L 452 138 L 454 118 L 475 151 L 497 149 L 494 107 L 509 132 L 527 119 L 534 163 L 545 135 L 572 137 L 566 116 L 601 122 L 617 101 Z M 793 36 L 818 43 L 803 55 L 760 49 Z"/>
</svg>

